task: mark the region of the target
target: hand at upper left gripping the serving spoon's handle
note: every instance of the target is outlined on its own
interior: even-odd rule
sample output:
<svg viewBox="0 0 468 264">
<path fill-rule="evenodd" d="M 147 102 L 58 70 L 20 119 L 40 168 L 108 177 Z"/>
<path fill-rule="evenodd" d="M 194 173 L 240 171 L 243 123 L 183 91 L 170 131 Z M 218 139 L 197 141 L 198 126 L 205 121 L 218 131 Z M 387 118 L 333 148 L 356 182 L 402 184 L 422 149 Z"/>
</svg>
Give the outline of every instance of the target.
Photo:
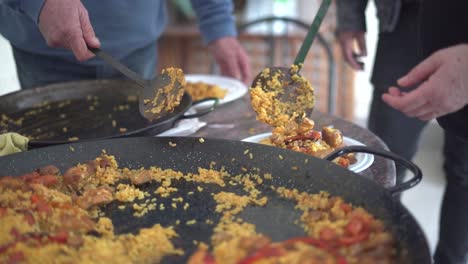
<svg viewBox="0 0 468 264">
<path fill-rule="evenodd" d="M 46 0 L 39 15 L 39 30 L 47 45 L 70 49 L 79 61 L 94 57 L 88 46 L 100 47 L 80 0 Z"/>
</svg>

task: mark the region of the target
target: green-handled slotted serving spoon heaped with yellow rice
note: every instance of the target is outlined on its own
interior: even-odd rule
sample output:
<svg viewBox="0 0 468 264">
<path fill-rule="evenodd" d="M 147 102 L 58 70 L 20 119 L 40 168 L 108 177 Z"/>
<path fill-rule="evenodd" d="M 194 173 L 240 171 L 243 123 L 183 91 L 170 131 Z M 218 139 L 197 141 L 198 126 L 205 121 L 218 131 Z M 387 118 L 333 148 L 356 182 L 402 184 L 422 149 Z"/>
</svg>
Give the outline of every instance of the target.
<svg viewBox="0 0 468 264">
<path fill-rule="evenodd" d="M 265 107 L 265 104 L 260 102 L 260 104 L 253 103 L 257 115 L 263 112 L 268 116 L 266 119 L 261 119 L 262 121 L 273 126 L 278 126 L 286 119 L 294 119 L 296 122 L 301 122 L 303 117 L 312 114 L 315 104 L 314 90 L 310 87 L 308 81 L 298 74 L 330 4 L 331 0 L 322 1 L 317 15 L 290 68 L 268 67 L 255 77 L 251 87 L 251 98 L 252 89 L 256 89 L 257 94 L 260 88 L 264 94 L 272 95 L 270 96 L 272 102 L 271 104 L 267 104 L 268 107 Z"/>
</svg>

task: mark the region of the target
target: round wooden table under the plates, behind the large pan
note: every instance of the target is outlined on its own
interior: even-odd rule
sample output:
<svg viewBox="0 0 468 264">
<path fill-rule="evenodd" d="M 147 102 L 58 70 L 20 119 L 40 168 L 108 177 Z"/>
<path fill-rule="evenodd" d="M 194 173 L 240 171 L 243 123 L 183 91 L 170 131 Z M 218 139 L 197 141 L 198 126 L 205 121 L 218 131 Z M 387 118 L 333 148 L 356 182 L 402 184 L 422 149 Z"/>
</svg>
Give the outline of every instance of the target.
<svg viewBox="0 0 468 264">
<path fill-rule="evenodd" d="M 207 122 L 193 136 L 206 138 L 224 138 L 241 140 L 243 138 L 271 132 L 271 127 L 255 119 L 255 112 L 250 106 L 248 95 L 234 102 L 218 106 L 212 113 L 200 118 Z M 387 149 L 386 145 L 369 130 L 359 127 L 341 118 L 315 111 L 312 115 L 316 127 L 333 125 L 342 131 L 343 135 L 358 140 L 370 147 Z M 396 173 L 393 161 L 375 157 L 374 163 L 359 174 L 374 179 L 384 187 L 395 185 Z"/>
</svg>

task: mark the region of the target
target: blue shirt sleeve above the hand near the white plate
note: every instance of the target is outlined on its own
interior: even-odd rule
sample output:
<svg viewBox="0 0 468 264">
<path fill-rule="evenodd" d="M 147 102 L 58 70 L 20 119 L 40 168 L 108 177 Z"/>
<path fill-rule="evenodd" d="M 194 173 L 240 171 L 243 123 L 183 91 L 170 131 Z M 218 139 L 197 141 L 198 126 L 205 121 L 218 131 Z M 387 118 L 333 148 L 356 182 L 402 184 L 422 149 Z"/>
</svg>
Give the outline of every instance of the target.
<svg viewBox="0 0 468 264">
<path fill-rule="evenodd" d="M 222 37 L 237 36 L 230 0 L 191 0 L 197 14 L 199 27 L 205 45 Z"/>
</svg>

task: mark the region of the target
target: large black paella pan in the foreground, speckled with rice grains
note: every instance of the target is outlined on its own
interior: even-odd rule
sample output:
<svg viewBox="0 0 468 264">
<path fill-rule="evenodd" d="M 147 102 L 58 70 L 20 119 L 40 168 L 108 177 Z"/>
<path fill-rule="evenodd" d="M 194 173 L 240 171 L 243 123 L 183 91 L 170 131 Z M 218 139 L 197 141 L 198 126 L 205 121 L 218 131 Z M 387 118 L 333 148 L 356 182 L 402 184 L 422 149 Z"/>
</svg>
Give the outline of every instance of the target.
<svg viewBox="0 0 468 264">
<path fill-rule="evenodd" d="M 387 190 L 332 162 L 275 147 L 221 139 L 109 139 L 39 148 L 6 156 L 0 158 L 0 175 L 19 175 L 49 164 L 65 169 L 92 160 L 103 150 L 114 155 L 120 166 L 129 168 L 159 166 L 183 173 L 196 173 L 199 167 L 214 166 L 217 169 L 224 167 L 232 175 L 252 171 L 271 173 L 271 183 L 258 187 L 263 195 L 268 196 L 268 203 L 265 206 L 249 206 L 240 217 L 255 224 L 258 232 L 274 241 L 304 236 L 305 233 L 296 224 L 300 213 L 294 204 L 275 196 L 271 185 L 310 193 L 327 191 L 353 205 L 362 206 L 384 222 L 397 241 L 398 263 L 430 263 L 428 245 L 421 228 L 402 204 L 392 197 L 392 192 L 401 191 L 401 188 Z M 407 165 L 418 175 L 406 183 L 404 189 L 414 185 L 421 177 L 417 167 L 411 163 Z M 155 185 L 157 183 L 151 183 L 142 188 L 153 190 L 157 187 Z M 219 187 L 213 185 L 203 192 L 187 195 L 186 190 L 195 188 L 191 183 L 174 183 L 174 186 L 178 188 L 178 194 L 190 203 L 188 209 L 178 207 L 164 212 L 150 211 L 143 217 L 135 218 L 131 210 L 120 210 L 117 204 L 111 203 L 105 208 L 106 215 L 114 222 L 116 233 L 136 233 L 155 223 L 167 226 L 174 225 L 177 220 L 196 220 L 193 225 L 176 227 L 179 237 L 173 242 L 176 247 L 184 249 L 185 255 L 166 258 L 165 263 L 186 260 L 196 249 L 194 240 L 209 244 L 213 226 L 206 224 L 205 220 L 216 222 L 220 218 L 220 214 L 213 210 L 215 204 L 211 199 L 211 193 Z M 236 191 L 235 186 L 230 188 Z"/>
</svg>

